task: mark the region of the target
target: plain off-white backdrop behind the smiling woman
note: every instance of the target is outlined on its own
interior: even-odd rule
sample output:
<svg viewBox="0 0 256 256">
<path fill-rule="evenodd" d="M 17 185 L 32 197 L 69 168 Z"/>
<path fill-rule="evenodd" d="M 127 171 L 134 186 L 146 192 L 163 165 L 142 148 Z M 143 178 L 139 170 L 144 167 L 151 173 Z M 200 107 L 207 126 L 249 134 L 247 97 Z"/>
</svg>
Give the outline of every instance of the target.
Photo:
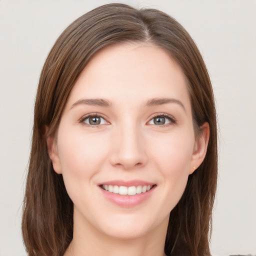
<svg viewBox="0 0 256 256">
<path fill-rule="evenodd" d="M 20 219 L 34 96 L 60 32 L 107 0 L 0 0 L 0 256 L 25 255 Z M 176 18 L 208 68 L 219 123 L 213 255 L 256 254 L 256 1 L 123 0 Z"/>
</svg>

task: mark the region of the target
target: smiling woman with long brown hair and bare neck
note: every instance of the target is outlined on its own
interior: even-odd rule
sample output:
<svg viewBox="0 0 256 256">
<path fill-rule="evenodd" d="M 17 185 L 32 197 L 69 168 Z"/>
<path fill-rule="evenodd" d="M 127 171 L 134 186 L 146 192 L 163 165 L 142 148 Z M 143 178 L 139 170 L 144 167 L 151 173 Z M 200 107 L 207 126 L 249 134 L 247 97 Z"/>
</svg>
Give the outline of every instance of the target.
<svg viewBox="0 0 256 256">
<path fill-rule="evenodd" d="M 212 88 L 177 21 L 115 3 L 63 31 L 35 101 L 28 255 L 210 255 L 216 177 Z"/>
</svg>

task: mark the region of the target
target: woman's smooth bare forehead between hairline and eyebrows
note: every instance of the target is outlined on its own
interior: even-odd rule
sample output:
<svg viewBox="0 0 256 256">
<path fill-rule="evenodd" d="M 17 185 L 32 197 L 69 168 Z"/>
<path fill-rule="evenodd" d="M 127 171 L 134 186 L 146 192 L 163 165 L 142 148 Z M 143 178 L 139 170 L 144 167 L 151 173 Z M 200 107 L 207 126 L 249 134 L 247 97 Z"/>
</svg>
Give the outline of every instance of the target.
<svg viewBox="0 0 256 256">
<path fill-rule="evenodd" d="M 166 51 L 146 43 L 115 44 L 99 50 L 80 73 L 67 103 L 81 97 L 119 103 L 156 97 L 174 97 L 184 104 L 189 101 L 180 66 Z"/>
</svg>

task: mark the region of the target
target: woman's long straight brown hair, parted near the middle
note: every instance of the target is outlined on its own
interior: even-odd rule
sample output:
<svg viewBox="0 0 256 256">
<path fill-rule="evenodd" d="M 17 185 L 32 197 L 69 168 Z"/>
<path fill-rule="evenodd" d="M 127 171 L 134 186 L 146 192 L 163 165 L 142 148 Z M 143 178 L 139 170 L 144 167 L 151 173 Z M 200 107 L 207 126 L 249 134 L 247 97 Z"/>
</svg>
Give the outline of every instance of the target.
<svg viewBox="0 0 256 256">
<path fill-rule="evenodd" d="M 56 131 L 69 92 L 93 54 L 125 41 L 150 42 L 166 50 L 187 78 L 195 132 L 203 122 L 209 123 L 206 156 L 189 175 L 180 201 L 170 212 L 164 249 L 166 255 L 210 255 L 217 136 L 214 98 L 205 64 L 187 31 L 166 13 L 111 3 L 71 23 L 56 40 L 41 71 L 22 218 L 29 256 L 62 256 L 72 240 L 73 204 L 62 175 L 52 168 L 46 138 Z"/>
</svg>

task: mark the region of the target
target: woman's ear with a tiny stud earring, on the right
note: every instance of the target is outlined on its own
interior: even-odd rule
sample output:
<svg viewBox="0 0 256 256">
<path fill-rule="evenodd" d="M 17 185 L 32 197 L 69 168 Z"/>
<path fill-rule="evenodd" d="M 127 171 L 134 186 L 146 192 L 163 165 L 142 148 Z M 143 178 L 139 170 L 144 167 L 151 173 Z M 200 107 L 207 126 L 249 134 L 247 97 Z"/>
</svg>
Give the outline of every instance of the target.
<svg viewBox="0 0 256 256">
<path fill-rule="evenodd" d="M 193 154 L 191 157 L 189 174 L 193 173 L 196 168 L 202 163 L 208 146 L 209 141 L 209 124 L 204 122 L 200 126 L 199 135 L 194 142 Z"/>
</svg>

